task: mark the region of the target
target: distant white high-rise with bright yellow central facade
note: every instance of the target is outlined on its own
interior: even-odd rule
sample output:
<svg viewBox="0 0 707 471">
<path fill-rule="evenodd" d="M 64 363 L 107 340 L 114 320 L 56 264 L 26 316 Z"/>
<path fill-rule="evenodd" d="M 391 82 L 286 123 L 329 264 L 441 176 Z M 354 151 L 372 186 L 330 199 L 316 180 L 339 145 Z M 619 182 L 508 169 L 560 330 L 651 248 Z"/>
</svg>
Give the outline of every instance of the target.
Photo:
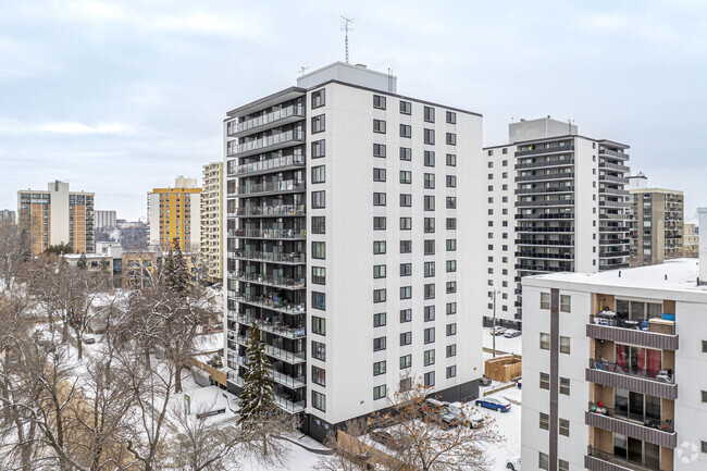
<svg viewBox="0 0 707 471">
<path fill-rule="evenodd" d="M 184 251 L 198 249 L 201 237 L 201 188 L 196 178 L 178 176 L 174 188 L 154 188 L 147 194 L 148 243 L 169 249 L 179 240 Z"/>
</svg>

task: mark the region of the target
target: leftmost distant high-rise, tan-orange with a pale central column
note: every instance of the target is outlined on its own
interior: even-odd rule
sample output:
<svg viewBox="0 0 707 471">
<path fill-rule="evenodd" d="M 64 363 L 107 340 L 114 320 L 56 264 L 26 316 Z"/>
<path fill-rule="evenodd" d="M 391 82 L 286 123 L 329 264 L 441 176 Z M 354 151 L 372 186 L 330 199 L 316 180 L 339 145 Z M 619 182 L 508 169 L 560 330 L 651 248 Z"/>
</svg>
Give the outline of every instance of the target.
<svg viewBox="0 0 707 471">
<path fill-rule="evenodd" d="M 50 245 L 70 244 L 75 253 L 94 251 L 94 194 L 69 190 L 69 183 L 51 182 L 47 191 L 17 191 L 20 231 L 26 231 L 33 253 Z"/>
</svg>

